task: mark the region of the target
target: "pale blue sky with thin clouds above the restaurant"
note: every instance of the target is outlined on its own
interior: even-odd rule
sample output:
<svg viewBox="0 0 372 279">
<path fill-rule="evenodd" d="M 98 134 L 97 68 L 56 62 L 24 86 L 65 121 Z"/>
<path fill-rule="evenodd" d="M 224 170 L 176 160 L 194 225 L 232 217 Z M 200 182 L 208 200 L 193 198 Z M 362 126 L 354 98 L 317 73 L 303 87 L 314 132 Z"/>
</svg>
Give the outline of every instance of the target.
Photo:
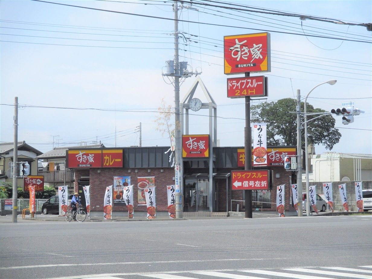
<svg viewBox="0 0 372 279">
<path fill-rule="evenodd" d="M 173 1 L 49 2 L 72 6 L 0 1 L 0 142 L 13 142 L 18 97 L 18 141 L 41 152 L 95 142 L 169 146 L 155 118 L 162 100 L 174 106 L 173 79 L 163 76 L 174 59 Z M 331 151 L 372 154 L 372 32 L 355 25 L 372 22 L 371 1 L 193 3 L 178 3 L 180 61 L 201 73 L 217 104 L 220 146 L 244 146 L 245 126 L 244 98 L 227 97 L 226 79 L 243 75 L 224 74 L 224 36 L 269 32 L 271 71 L 251 74 L 268 77 L 268 96 L 251 105 L 295 99 L 298 89 L 304 101 L 337 80 L 307 101 L 326 111 L 355 102 L 365 113 L 349 125 L 334 116 L 342 136 Z M 181 100 L 195 79 L 181 79 Z M 194 97 L 206 102 L 200 88 Z M 190 111 L 189 122 L 189 134 L 208 134 L 207 109 Z M 315 145 L 316 154 L 329 151 Z"/>
</svg>

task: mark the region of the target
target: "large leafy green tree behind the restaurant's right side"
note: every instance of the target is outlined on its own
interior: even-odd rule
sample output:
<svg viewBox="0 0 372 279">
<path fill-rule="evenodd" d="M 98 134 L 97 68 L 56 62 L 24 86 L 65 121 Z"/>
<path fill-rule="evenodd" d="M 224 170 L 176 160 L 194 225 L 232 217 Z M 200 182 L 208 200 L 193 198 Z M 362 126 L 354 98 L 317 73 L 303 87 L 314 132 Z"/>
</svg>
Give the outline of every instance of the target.
<svg viewBox="0 0 372 279">
<path fill-rule="evenodd" d="M 307 104 L 307 113 L 325 112 Z M 267 124 L 267 145 L 297 145 L 297 115 L 290 113 L 296 111 L 296 100 L 281 99 L 277 102 L 264 102 L 251 106 L 251 122 L 265 122 Z M 304 111 L 304 102 L 301 102 L 301 111 Z M 309 115 L 312 119 L 317 115 Z M 301 121 L 304 121 L 301 117 Z M 328 150 L 339 142 L 341 134 L 334 128 L 336 123 L 331 115 L 324 115 L 307 124 L 308 144 L 322 144 Z M 301 147 L 305 148 L 304 125 L 301 126 Z"/>
</svg>

